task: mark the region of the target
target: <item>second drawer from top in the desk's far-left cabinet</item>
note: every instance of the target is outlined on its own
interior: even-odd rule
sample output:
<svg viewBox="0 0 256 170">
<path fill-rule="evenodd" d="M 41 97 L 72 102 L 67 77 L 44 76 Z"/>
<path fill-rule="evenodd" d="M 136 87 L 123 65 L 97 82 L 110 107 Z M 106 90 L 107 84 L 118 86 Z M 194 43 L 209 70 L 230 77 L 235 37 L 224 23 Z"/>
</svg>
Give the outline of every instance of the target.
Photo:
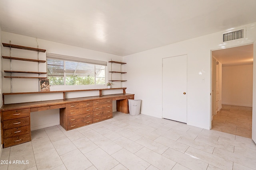
<svg viewBox="0 0 256 170">
<path fill-rule="evenodd" d="M 22 117 L 18 119 L 4 120 L 4 129 L 30 125 L 29 117 Z"/>
</svg>

